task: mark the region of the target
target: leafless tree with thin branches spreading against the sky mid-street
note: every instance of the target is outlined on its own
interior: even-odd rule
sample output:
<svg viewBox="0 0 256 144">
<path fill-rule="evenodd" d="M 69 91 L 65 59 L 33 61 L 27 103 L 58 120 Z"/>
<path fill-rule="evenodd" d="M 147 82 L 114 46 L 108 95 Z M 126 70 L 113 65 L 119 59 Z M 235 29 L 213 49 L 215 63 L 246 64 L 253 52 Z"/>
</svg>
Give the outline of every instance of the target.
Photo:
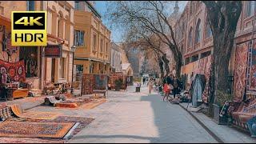
<svg viewBox="0 0 256 144">
<path fill-rule="evenodd" d="M 174 30 L 170 22 L 168 22 L 168 13 L 170 2 L 161 1 L 115 1 L 110 2 L 107 18 L 112 22 L 112 26 L 119 26 L 127 31 L 137 28 L 146 37 L 154 35 L 158 37 L 162 43 L 166 44 L 169 50 L 174 55 L 176 62 L 177 76 L 180 76 L 182 66 L 182 53 L 178 50 L 174 38 Z M 136 39 L 136 37 L 134 38 Z M 166 61 L 166 55 L 163 55 L 162 60 Z M 169 65 L 166 65 L 166 70 Z M 167 74 L 170 69 L 167 71 Z"/>
</svg>

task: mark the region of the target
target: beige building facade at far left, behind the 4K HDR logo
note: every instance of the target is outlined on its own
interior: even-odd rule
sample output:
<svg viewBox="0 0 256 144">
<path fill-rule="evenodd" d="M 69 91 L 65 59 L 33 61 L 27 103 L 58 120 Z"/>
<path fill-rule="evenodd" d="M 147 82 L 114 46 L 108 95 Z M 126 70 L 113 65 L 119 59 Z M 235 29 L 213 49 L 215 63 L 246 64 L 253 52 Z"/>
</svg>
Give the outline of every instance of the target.
<svg viewBox="0 0 256 144">
<path fill-rule="evenodd" d="M 72 1 L 0 1 L 0 26 L 10 34 L 11 11 L 47 11 L 48 45 L 61 45 L 60 58 L 46 58 L 43 46 L 18 46 L 8 57 L 0 45 L 0 59 L 6 62 L 25 61 L 26 82 L 42 90 L 44 83 L 71 82 L 74 43 L 74 2 Z M 3 28 L 4 27 L 4 28 Z M 0 32 L 2 42 L 3 31 Z M 8 49 L 8 47 L 7 47 Z M 33 68 L 33 70 L 32 70 Z"/>
</svg>

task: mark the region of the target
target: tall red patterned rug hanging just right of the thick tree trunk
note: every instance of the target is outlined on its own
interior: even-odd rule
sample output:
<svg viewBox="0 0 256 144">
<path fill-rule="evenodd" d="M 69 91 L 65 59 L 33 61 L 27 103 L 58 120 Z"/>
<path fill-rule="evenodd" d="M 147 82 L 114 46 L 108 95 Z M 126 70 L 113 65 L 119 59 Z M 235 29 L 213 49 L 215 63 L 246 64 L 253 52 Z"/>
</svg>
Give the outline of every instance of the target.
<svg viewBox="0 0 256 144">
<path fill-rule="evenodd" d="M 234 62 L 234 96 L 242 98 L 246 86 L 246 63 L 247 63 L 247 44 L 242 43 L 236 47 Z"/>
</svg>

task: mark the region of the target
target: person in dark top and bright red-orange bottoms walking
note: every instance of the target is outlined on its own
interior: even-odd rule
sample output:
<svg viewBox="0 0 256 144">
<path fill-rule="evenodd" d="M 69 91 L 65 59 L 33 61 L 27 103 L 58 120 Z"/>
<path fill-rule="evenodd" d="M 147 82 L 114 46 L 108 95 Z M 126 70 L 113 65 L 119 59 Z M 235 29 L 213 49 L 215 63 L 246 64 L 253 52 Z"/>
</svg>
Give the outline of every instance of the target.
<svg viewBox="0 0 256 144">
<path fill-rule="evenodd" d="M 163 101 L 165 101 L 165 98 L 166 98 L 166 101 L 168 101 L 168 98 L 170 97 L 170 90 L 173 89 L 171 75 L 172 75 L 171 73 L 169 75 L 166 74 L 162 82 L 163 90 L 165 92 L 165 96 L 162 99 Z"/>
</svg>

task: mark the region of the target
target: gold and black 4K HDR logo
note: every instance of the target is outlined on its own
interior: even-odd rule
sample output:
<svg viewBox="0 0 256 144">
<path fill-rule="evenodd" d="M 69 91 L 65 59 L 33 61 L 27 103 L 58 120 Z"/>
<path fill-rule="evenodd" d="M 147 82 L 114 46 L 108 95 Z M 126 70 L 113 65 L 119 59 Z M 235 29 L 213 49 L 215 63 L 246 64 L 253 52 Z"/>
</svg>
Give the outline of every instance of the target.
<svg viewBox="0 0 256 144">
<path fill-rule="evenodd" d="M 47 46 L 46 11 L 13 11 L 12 46 Z"/>
</svg>

